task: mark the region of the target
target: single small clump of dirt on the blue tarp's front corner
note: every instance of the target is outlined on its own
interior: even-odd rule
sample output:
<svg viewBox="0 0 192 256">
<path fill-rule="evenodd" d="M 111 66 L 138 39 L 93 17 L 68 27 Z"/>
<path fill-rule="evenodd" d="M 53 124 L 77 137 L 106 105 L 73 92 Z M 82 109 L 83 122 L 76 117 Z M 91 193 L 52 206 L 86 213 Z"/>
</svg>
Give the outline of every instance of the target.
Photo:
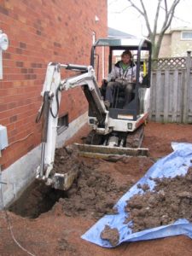
<svg viewBox="0 0 192 256">
<path fill-rule="evenodd" d="M 111 229 L 108 225 L 105 225 L 100 237 L 103 240 L 109 241 L 113 247 L 117 246 L 119 243 L 119 231 L 117 229 Z"/>
</svg>

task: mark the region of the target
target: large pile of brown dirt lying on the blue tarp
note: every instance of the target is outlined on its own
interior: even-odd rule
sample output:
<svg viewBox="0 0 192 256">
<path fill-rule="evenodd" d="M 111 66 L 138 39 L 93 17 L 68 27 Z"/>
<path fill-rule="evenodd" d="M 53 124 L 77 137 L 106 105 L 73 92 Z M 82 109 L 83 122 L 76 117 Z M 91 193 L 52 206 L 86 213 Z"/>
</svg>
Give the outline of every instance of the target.
<svg viewBox="0 0 192 256">
<path fill-rule="evenodd" d="M 125 207 L 125 211 L 130 212 L 126 222 L 133 221 L 132 230 L 137 232 L 172 224 L 178 218 L 192 222 L 192 167 L 185 176 L 155 178 L 154 181 L 153 191 L 132 196 Z"/>
</svg>

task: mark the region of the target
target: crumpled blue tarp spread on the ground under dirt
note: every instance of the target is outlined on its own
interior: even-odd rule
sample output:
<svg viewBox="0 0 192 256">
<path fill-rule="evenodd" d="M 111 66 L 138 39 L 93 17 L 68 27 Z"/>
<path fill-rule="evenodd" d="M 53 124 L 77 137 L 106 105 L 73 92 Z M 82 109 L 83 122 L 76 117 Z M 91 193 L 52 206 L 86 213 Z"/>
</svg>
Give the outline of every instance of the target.
<svg viewBox="0 0 192 256">
<path fill-rule="evenodd" d="M 90 230 L 81 236 L 86 241 L 91 241 L 102 247 L 113 247 L 108 241 L 102 240 L 100 234 L 105 225 L 110 228 L 119 230 L 119 244 L 123 241 L 141 241 L 150 240 L 166 236 L 185 235 L 192 238 L 192 224 L 185 218 L 177 219 L 174 224 L 164 225 L 149 230 L 132 233 L 131 228 L 124 224 L 128 213 L 124 211 L 127 201 L 131 196 L 142 194 L 143 189 L 138 189 L 137 184 L 147 183 L 150 190 L 154 188 L 154 181 L 149 177 L 175 177 L 185 175 L 189 166 L 192 166 L 192 144 L 189 143 L 172 143 L 173 152 L 166 157 L 158 160 L 154 166 L 151 166 L 148 172 L 123 195 L 114 207 L 118 209 L 119 214 L 105 215 Z"/>
</svg>

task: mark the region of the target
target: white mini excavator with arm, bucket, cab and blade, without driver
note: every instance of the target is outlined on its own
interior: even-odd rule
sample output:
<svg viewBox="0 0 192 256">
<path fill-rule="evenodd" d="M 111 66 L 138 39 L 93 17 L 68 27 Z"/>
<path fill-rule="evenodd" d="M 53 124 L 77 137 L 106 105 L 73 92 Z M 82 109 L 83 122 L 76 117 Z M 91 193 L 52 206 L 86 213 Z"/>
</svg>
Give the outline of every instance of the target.
<svg viewBox="0 0 192 256">
<path fill-rule="evenodd" d="M 107 55 L 110 73 L 120 53 L 127 49 L 131 50 L 132 61 L 137 66 L 136 81 L 134 79 L 132 82 L 134 90 L 131 102 L 124 106 L 124 91 L 115 89 L 113 105 L 107 108 L 104 101 L 108 84 L 102 83 L 99 87 L 97 81 L 103 79 L 101 73 L 105 73 Z M 102 72 L 99 71 L 101 62 Z M 73 71 L 76 75 L 61 79 L 61 69 Z M 67 190 L 77 177 L 77 173 L 70 170 L 65 174 L 55 173 L 53 165 L 61 91 L 78 86 L 84 91 L 89 103 L 88 123 L 91 128 L 85 143 L 76 144 L 81 155 L 148 155 L 148 148 L 141 148 L 141 144 L 143 126 L 148 118 L 150 73 L 151 42 L 146 38 L 100 38 L 92 46 L 90 66 L 50 62 L 41 93 L 43 103 L 37 117 L 37 121 L 41 117 L 43 119 L 41 163 L 37 178 L 55 189 Z M 141 75 L 142 82 L 139 79 Z"/>
</svg>

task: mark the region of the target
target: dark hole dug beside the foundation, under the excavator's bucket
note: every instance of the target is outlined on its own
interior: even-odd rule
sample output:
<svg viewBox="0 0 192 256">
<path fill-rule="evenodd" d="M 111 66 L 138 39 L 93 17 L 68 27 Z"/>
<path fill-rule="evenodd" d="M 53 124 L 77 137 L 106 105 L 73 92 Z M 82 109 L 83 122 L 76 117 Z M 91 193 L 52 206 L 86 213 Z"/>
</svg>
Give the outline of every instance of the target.
<svg viewBox="0 0 192 256">
<path fill-rule="evenodd" d="M 60 198 L 66 198 L 65 191 L 52 189 L 35 180 L 10 207 L 10 212 L 26 218 L 38 218 L 49 210 Z"/>
</svg>

